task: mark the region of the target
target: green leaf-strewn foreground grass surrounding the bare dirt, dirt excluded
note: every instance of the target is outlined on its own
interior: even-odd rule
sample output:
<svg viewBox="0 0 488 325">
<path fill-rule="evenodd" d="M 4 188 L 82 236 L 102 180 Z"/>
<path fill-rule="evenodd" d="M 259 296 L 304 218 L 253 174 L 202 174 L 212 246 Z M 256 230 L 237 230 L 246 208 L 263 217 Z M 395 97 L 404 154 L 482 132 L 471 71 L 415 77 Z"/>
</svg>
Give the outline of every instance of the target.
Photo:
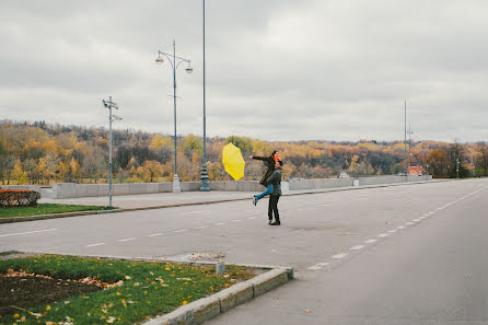
<svg viewBox="0 0 488 325">
<path fill-rule="evenodd" d="M 28 312 L 20 310 L 12 315 L 2 315 L 1 324 L 14 324 L 23 317 L 25 321 L 19 324 L 59 324 L 68 321 L 73 324 L 140 323 L 149 316 L 169 313 L 210 295 L 228 287 L 234 276 L 245 272 L 243 267 L 228 266 L 225 276 L 217 276 L 212 267 L 60 255 L 0 260 L 0 272 L 8 269 L 47 275 L 55 279 L 78 280 L 90 276 L 104 282 L 121 280 L 124 283 L 37 305 L 27 309 Z"/>
</svg>

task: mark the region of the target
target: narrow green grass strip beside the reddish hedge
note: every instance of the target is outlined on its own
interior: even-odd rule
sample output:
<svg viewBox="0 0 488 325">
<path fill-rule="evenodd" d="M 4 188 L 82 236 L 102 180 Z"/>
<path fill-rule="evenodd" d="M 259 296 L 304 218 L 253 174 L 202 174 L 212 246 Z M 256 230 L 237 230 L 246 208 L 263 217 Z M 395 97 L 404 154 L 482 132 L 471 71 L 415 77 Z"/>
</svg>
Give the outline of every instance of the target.
<svg viewBox="0 0 488 325">
<path fill-rule="evenodd" d="M 36 207 L 0 208 L 0 217 L 26 217 L 75 211 L 111 210 L 111 207 L 40 204 Z"/>
</svg>

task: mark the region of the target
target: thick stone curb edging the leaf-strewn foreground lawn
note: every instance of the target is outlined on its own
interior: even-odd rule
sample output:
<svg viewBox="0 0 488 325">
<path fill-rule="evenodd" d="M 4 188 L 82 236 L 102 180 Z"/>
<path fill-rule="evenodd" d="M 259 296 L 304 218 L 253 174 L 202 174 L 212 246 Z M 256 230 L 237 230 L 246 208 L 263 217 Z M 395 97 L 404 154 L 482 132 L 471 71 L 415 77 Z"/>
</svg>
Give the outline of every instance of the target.
<svg viewBox="0 0 488 325">
<path fill-rule="evenodd" d="M 293 279 L 287 268 L 275 268 L 207 298 L 190 302 L 143 325 L 197 325 L 243 304 Z"/>
</svg>

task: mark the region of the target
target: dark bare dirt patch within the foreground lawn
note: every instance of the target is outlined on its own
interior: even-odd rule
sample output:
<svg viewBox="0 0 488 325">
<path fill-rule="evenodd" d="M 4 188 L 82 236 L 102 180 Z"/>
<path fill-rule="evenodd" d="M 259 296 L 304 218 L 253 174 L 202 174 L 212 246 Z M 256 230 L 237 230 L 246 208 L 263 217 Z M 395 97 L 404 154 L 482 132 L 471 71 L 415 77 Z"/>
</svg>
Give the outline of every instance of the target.
<svg viewBox="0 0 488 325">
<path fill-rule="evenodd" d="M 103 288 L 77 280 L 0 275 L 0 315 L 19 312 L 14 306 L 28 309 L 98 290 Z"/>
</svg>

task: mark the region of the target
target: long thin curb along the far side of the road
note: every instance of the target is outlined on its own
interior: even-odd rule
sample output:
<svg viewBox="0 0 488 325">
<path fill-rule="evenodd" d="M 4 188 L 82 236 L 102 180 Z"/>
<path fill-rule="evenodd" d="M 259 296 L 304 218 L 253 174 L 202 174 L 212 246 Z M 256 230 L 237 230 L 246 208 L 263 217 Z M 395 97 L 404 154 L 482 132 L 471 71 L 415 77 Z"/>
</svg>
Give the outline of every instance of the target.
<svg viewBox="0 0 488 325">
<path fill-rule="evenodd" d="M 283 194 L 282 196 L 317 194 L 317 193 L 327 193 L 327 191 L 341 191 L 341 190 L 355 190 L 355 189 L 367 189 L 367 188 L 390 187 L 390 186 L 413 185 L 413 184 L 430 184 L 430 183 L 441 183 L 441 182 L 449 182 L 449 181 L 441 179 L 441 181 L 408 182 L 408 183 L 394 183 L 394 184 L 364 185 L 364 186 L 345 187 L 345 188 L 342 188 L 342 187 L 337 187 L 337 188 L 316 188 L 315 190 L 307 190 L 307 191 L 301 191 L 301 193 L 287 193 L 287 194 Z M 56 218 L 67 218 L 67 217 L 93 216 L 93 214 L 118 213 L 118 212 L 128 212 L 128 211 L 141 211 L 141 210 L 177 208 L 177 207 L 184 207 L 184 206 L 214 205 L 214 204 L 222 204 L 222 202 L 243 201 L 243 200 L 248 200 L 249 198 L 251 198 L 251 196 L 249 197 L 244 197 L 244 198 L 221 199 L 221 200 L 214 200 L 214 201 L 174 204 L 174 205 L 151 206 L 151 207 L 140 207 L 140 208 L 120 208 L 120 209 L 114 209 L 114 210 L 96 210 L 96 211 L 92 210 L 92 211 L 65 212 L 65 213 L 55 213 L 55 214 L 40 214 L 40 216 L 27 216 L 27 217 L 10 217 L 10 218 L 0 218 L 0 224 L 2 224 L 2 223 L 13 223 L 13 222 L 23 222 L 23 221 L 36 221 L 36 220 L 56 219 Z"/>
</svg>

